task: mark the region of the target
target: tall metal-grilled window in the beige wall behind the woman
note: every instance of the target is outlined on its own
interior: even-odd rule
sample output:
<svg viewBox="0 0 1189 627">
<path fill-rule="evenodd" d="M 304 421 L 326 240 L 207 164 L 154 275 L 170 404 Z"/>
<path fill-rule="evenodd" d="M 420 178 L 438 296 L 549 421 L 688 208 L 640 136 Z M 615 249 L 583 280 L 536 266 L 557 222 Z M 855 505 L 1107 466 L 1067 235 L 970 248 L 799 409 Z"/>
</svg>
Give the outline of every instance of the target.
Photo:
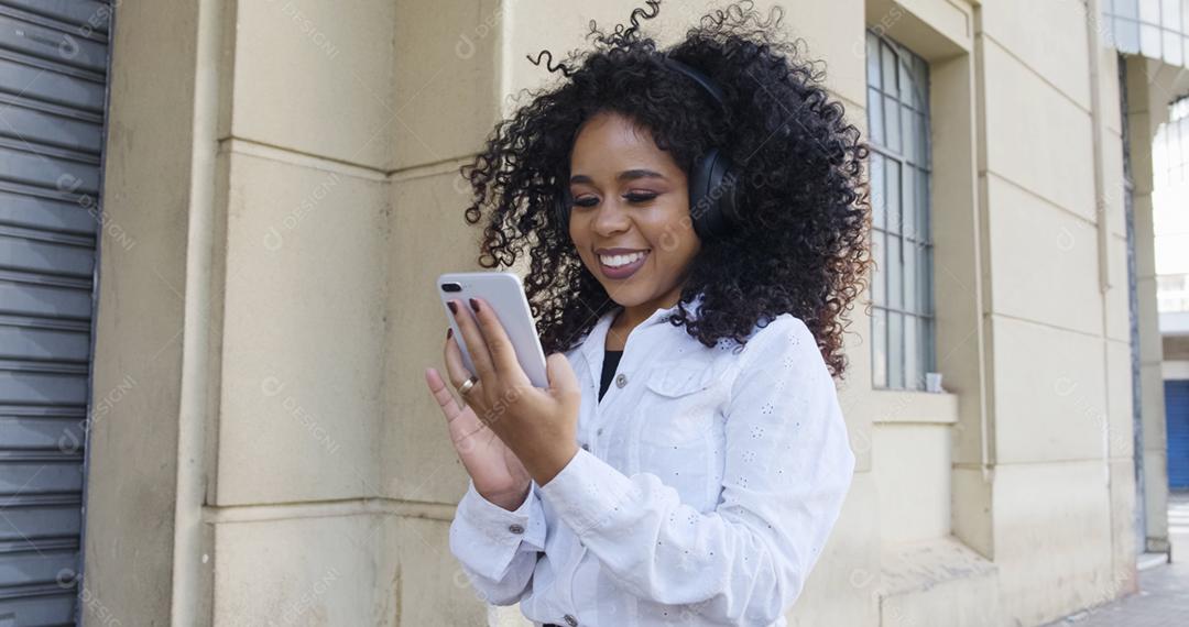
<svg viewBox="0 0 1189 627">
<path fill-rule="evenodd" d="M 867 32 L 872 359 L 875 387 L 924 390 L 936 369 L 930 242 L 929 64 Z"/>
</svg>

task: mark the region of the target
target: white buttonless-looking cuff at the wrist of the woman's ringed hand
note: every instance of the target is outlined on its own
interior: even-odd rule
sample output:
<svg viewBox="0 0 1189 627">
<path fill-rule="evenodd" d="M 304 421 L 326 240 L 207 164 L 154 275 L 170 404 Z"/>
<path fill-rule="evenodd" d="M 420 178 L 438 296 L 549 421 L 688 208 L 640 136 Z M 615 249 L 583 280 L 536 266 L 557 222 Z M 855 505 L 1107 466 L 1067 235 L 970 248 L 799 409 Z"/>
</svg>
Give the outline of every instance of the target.
<svg viewBox="0 0 1189 627">
<path fill-rule="evenodd" d="M 614 466 L 578 449 L 561 471 L 537 489 L 558 518 L 581 537 L 610 521 L 636 487 Z"/>
</svg>

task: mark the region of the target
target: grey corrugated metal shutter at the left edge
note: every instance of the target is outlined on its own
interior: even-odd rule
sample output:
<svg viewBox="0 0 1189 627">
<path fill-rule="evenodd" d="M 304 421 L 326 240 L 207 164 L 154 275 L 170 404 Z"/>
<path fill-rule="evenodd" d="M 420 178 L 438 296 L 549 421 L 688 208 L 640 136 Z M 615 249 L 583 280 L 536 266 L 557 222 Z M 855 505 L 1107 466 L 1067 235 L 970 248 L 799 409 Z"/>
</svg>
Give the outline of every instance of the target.
<svg viewBox="0 0 1189 627">
<path fill-rule="evenodd" d="M 74 625 L 111 6 L 0 0 L 0 625 Z"/>
</svg>

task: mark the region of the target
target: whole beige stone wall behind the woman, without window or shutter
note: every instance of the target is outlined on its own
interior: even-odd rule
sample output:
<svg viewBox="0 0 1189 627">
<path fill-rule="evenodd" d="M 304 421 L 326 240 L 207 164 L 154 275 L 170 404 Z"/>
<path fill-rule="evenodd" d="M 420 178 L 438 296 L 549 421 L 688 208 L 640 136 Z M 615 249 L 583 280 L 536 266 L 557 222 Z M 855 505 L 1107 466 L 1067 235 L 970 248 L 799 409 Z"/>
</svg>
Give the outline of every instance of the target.
<svg viewBox="0 0 1189 627">
<path fill-rule="evenodd" d="M 88 615 L 524 623 L 447 546 L 433 279 L 477 267 L 457 170 L 553 80 L 524 55 L 636 5 L 120 5 L 107 211 L 146 243 L 105 246 L 95 388 L 141 385 L 92 432 Z M 780 5 L 861 128 L 866 27 L 930 62 L 948 391 L 872 390 L 851 312 L 856 475 L 791 623 L 1034 625 L 1132 589 L 1114 53 L 1075 0 Z M 662 44 L 712 6 L 667 2 Z"/>
</svg>

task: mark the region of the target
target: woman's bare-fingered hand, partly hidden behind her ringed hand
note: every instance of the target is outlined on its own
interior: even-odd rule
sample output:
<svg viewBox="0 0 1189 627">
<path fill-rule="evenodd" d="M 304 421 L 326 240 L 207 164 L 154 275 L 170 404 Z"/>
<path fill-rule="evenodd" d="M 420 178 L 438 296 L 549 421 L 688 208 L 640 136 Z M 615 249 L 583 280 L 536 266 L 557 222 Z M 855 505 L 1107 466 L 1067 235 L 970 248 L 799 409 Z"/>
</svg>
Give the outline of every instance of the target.
<svg viewBox="0 0 1189 627">
<path fill-rule="evenodd" d="M 447 340 L 447 348 L 449 342 Z M 523 505 L 533 479 L 516 454 L 479 420 L 471 407 L 458 405 L 436 369 L 426 368 L 426 382 L 446 416 L 451 444 L 474 481 L 474 489 L 508 511 Z"/>
</svg>

